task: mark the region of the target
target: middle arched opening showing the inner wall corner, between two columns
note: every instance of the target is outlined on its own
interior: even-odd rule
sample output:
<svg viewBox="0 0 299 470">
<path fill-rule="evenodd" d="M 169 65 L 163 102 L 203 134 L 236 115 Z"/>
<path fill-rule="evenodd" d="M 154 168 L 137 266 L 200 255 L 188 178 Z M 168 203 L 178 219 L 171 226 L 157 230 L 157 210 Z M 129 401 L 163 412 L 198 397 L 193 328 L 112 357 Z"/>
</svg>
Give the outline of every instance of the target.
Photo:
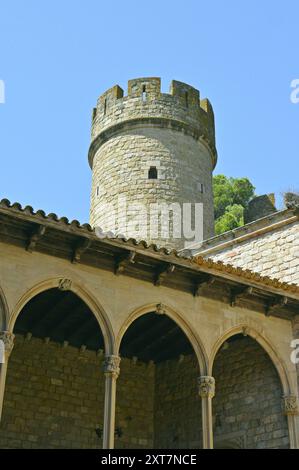
<svg viewBox="0 0 299 470">
<path fill-rule="evenodd" d="M 133 321 L 121 345 L 116 448 L 201 448 L 198 359 L 182 329 L 151 312 Z"/>
</svg>

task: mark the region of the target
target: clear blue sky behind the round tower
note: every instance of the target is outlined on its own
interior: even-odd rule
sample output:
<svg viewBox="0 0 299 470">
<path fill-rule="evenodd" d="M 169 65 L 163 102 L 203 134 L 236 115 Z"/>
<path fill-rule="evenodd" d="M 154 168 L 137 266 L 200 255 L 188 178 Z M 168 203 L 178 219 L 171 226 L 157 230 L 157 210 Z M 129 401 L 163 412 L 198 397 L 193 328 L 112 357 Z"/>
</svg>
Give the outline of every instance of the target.
<svg viewBox="0 0 299 470">
<path fill-rule="evenodd" d="M 298 189 L 298 19 L 296 0 L 1 0 L 0 198 L 88 221 L 92 107 L 139 76 L 210 99 L 215 173 Z"/>
</svg>

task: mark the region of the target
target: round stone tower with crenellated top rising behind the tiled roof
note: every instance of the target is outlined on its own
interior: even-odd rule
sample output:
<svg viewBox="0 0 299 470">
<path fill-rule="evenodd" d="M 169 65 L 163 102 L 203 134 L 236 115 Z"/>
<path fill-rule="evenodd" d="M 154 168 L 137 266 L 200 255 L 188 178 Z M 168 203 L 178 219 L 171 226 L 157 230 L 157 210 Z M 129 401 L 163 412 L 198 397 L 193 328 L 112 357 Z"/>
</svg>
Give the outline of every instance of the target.
<svg viewBox="0 0 299 470">
<path fill-rule="evenodd" d="M 212 171 L 217 160 L 208 100 L 160 78 L 114 86 L 93 110 L 90 223 L 169 248 L 214 235 Z"/>
</svg>

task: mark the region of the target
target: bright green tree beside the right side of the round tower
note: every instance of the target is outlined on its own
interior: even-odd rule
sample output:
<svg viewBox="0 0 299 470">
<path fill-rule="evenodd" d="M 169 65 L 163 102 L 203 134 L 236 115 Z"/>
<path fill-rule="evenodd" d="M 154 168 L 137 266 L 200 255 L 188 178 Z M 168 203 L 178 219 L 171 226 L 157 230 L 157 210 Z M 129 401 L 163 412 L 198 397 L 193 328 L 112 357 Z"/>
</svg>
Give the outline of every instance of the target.
<svg viewBox="0 0 299 470">
<path fill-rule="evenodd" d="M 255 187 L 248 178 L 213 178 L 216 235 L 244 225 L 244 209 L 254 197 Z"/>
</svg>

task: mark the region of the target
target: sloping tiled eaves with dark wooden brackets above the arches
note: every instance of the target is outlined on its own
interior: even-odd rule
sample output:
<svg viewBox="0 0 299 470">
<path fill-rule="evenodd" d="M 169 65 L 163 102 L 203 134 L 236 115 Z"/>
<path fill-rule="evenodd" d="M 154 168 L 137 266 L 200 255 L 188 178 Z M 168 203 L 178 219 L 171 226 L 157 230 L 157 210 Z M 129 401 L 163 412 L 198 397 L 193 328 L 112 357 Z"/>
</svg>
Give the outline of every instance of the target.
<svg viewBox="0 0 299 470">
<path fill-rule="evenodd" d="M 88 250 L 83 252 L 80 260 L 80 263 L 83 264 L 92 264 L 99 267 L 104 267 L 105 265 L 100 258 L 104 256 L 102 252 L 110 253 L 110 258 L 112 260 L 112 270 L 115 271 L 115 265 L 117 260 L 120 257 L 124 257 L 126 254 L 136 253 L 134 257 L 134 263 L 128 263 L 123 270 L 123 273 L 126 275 L 133 275 L 138 278 L 143 278 L 142 266 L 143 263 L 139 263 L 139 260 L 146 259 L 147 263 L 153 265 L 151 281 L 156 282 L 157 273 L 161 273 L 164 269 L 167 269 L 169 265 L 174 266 L 172 268 L 172 274 L 167 275 L 163 278 L 163 284 L 165 286 L 170 283 L 173 288 L 180 288 L 180 281 L 176 281 L 176 276 L 187 275 L 190 283 L 190 275 L 194 276 L 194 284 L 190 291 L 194 293 L 195 285 L 198 285 L 205 280 L 207 275 L 215 277 L 217 283 L 221 282 L 222 284 L 238 285 L 242 288 L 243 286 L 252 286 L 255 290 L 259 292 L 265 292 L 267 295 L 272 295 L 272 299 L 275 305 L 279 305 L 276 297 L 285 297 L 288 296 L 290 299 L 299 300 L 299 286 L 295 284 L 288 284 L 285 282 L 280 282 L 277 279 L 270 279 L 269 277 L 263 277 L 257 273 L 254 273 L 250 270 L 244 270 L 241 268 L 235 268 L 229 264 L 224 264 L 222 262 L 214 262 L 211 259 L 204 259 L 201 256 L 190 258 L 183 256 L 175 250 L 169 250 L 165 247 L 158 247 L 154 244 L 148 244 L 144 241 L 137 241 L 134 239 L 99 239 L 94 230 L 88 225 L 80 225 L 78 221 L 69 222 L 68 219 L 62 217 L 58 219 L 55 214 L 49 214 L 48 216 L 43 211 L 34 212 L 33 209 L 29 206 L 23 209 L 20 204 L 11 205 L 9 201 L 2 200 L 0 202 L 0 241 L 18 245 L 26 249 L 28 245 L 28 237 L 26 236 L 26 231 L 32 233 L 36 225 L 41 223 L 47 227 L 45 233 L 39 242 L 36 242 L 35 251 L 48 253 L 52 256 L 56 256 L 58 250 L 61 250 L 61 257 L 69 256 L 69 248 L 65 248 L 67 244 L 72 247 L 70 262 L 73 261 L 73 247 L 77 246 L 78 242 L 82 241 L 82 236 L 88 239 Z M 3 230 L 1 229 L 3 227 Z M 9 233 L 9 237 L 7 234 Z M 53 235 L 55 234 L 55 246 L 53 246 Z M 22 238 L 23 237 L 23 238 Z M 58 240 L 61 239 L 61 246 Z M 39 244 L 40 243 L 40 244 Z M 30 254 L 28 253 L 30 256 Z M 99 264 L 97 264 L 99 263 Z M 110 265 L 109 265 L 110 266 Z M 106 268 L 107 269 L 107 268 Z M 110 267 L 108 267 L 110 269 Z M 163 272 L 164 272 L 163 271 Z M 184 274 L 185 273 L 185 274 Z M 144 275 L 148 276 L 146 272 Z M 179 278 L 178 278 L 179 279 Z M 149 280 L 149 278 L 148 278 Z M 186 278 L 187 280 L 187 278 Z M 216 283 L 216 284 L 217 284 Z M 204 284 L 205 285 L 205 284 Z M 213 287 L 215 284 L 210 283 L 207 288 Z M 233 287 L 233 286 L 232 286 Z M 231 297 L 231 296 L 230 296 Z M 284 305 L 285 302 L 284 302 Z M 289 309 L 289 304 L 287 304 L 286 310 Z M 291 308 L 291 307 L 290 307 Z"/>
</svg>

